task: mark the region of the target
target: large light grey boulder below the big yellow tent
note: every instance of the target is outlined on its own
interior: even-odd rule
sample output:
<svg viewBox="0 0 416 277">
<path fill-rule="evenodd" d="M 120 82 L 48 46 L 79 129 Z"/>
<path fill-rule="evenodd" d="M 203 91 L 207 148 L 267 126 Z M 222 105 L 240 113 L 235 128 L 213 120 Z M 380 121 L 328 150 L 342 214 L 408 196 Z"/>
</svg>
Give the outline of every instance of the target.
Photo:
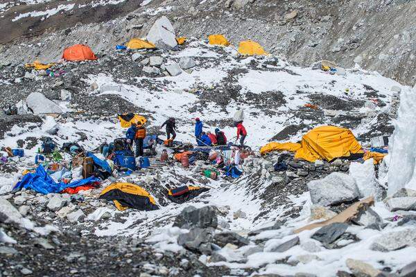
<svg viewBox="0 0 416 277">
<path fill-rule="evenodd" d="M 313 204 L 329 206 L 358 199 L 360 193 L 354 178 L 340 172 L 332 172 L 324 179 L 308 183 Z"/>
</svg>

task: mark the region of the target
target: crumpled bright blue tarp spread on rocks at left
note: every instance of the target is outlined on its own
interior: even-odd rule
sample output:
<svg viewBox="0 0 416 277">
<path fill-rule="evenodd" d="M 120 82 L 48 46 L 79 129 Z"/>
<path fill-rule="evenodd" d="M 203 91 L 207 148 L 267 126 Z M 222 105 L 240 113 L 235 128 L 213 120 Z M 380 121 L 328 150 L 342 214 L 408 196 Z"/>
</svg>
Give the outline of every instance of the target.
<svg viewBox="0 0 416 277">
<path fill-rule="evenodd" d="M 44 195 L 48 193 L 60 193 L 65 188 L 76 188 L 77 186 L 85 186 L 87 184 L 100 181 L 96 177 L 89 177 L 79 181 L 73 181 L 72 183 L 65 184 L 64 182 L 55 183 L 53 179 L 46 173 L 43 166 L 38 166 L 35 173 L 28 173 L 24 175 L 23 179 L 19 181 L 13 190 L 21 190 L 26 188 L 28 190 L 35 190 L 37 193 Z"/>
</svg>

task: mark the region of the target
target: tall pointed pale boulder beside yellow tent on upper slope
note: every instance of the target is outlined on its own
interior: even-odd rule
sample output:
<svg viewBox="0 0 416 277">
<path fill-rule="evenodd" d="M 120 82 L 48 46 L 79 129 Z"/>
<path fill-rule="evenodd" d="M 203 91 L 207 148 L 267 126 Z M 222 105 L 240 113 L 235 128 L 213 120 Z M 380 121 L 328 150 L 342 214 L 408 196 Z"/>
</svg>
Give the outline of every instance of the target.
<svg viewBox="0 0 416 277">
<path fill-rule="evenodd" d="M 175 30 L 171 21 L 165 16 L 155 21 L 146 39 L 155 44 L 156 48 L 163 50 L 172 50 L 177 46 Z"/>
</svg>

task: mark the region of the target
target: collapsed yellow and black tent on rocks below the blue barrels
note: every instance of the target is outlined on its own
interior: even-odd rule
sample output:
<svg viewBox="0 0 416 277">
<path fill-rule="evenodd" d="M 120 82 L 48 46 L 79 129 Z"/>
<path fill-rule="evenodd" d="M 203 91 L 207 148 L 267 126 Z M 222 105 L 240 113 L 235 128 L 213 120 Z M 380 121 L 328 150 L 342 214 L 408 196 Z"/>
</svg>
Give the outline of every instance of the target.
<svg viewBox="0 0 416 277">
<path fill-rule="evenodd" d="M 130 183 L 114 183 L 107 186 L 98 198 L 112 200 L 119 211 L 124 211 L 127 208 L 141 211 L 159 209 L 155 199 L 144 188 Z"/>
</svg>

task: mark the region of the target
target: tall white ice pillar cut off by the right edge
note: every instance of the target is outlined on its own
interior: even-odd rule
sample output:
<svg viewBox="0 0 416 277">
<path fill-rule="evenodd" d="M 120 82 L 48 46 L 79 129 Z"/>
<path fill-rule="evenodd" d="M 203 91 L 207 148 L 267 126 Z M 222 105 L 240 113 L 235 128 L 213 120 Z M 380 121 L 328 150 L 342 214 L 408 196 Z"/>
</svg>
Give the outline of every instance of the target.
<svg viewBox="0 0 416 277">
<path fill-rule="evenodd" d="M 416 190 L 416 90 L 401 91 L 395 132 L 389 143 L 388 195 L 400 188 Z"/>
</svg>

